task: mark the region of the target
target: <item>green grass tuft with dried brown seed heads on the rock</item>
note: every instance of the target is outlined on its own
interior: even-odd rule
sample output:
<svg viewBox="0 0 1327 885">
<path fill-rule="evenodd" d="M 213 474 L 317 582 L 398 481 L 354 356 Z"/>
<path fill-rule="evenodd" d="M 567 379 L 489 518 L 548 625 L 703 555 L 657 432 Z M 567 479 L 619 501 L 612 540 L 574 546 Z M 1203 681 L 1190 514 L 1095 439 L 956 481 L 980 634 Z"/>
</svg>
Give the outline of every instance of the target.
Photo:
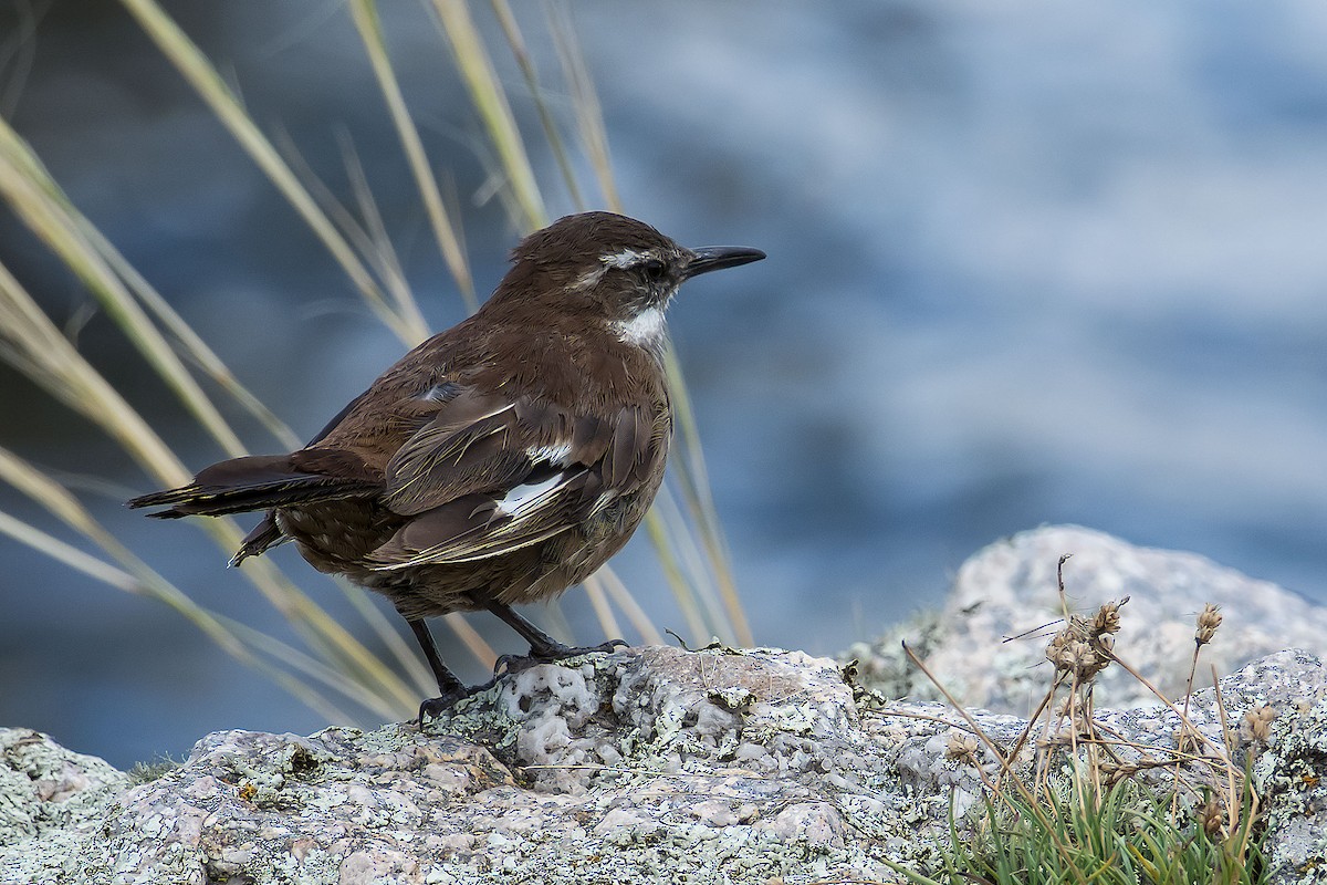
<svg viewBox="0 0 1327 885">
<path fill-rule="evenodd" d="M 1101 605 L 1092 617 L 1070 610 L 1063 573 L 1067 559 L 1062 557 L 1056 569 L 1063 626 L 1046 647 L 1054 666 L 1051 685 L 1009 751 L 1002 752 L 979 731 L 971 715 L 905 646 L 909 661 L 975 730 L 975 736 L 951 732 L 945 751 L 946 758 L 974 766 L 987 789 L 986 819 L 974 824 L 975 843 L 951 823 L 953 854 L 946 869 L 953 881 L 1261 882 L 1250 872 L 1259 858 L 1258 799 L 1246 770 L 1235 763 L 1233 751 L 1217 746 L 1193 724 L 1188 705 L 1178 710 L 1120 659 L 1115 637 L 1121 630 L 1120 608 L 1127 598 Z M 1218 625 L 1220 614 L 1208 606 L 1200 616 L 1197 636 L 1204 641 L 1197 649 L 1212 641 Z M 1095 681 L 1111 663 L 1137 678 L 1180 716 L 1173 751 L 1125 740 L 1097 722 Z M 1220 686 L 1216 702 L 1226 743 L 1233 747 L 1235 735 L 1226 722 Z M 1270 738 L 1274 716 L 1266 707 L 1243 714 L 1238 740 L 1250 748 L 1246 764 Z M 1042 736 L 1028 779 L 1015 766 L 1038 727 Z M 994 780 L 978 764 L 981 744 L 999 762 Z M 1153 776 L 1152 785 L 1144 785 L 1139 778 L 1147 772 L 1165 772 L 1168 780 L 1157 784 Z"/>
</svg>

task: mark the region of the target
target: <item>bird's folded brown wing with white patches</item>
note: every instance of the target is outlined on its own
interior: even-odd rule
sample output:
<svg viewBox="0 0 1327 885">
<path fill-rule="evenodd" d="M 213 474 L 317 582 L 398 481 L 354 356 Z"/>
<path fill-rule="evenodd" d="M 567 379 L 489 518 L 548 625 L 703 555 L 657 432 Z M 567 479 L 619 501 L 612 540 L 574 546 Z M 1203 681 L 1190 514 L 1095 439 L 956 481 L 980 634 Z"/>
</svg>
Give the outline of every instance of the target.
<svg viewBox="0 0 1327 885">
<path fill-rule="evenodd" d="M 466 391 L 387 463 L 384 503 L 413 519 L 370 559 L 466 563 L 551 539 L 649 482 L 665 434 L 632 406 L 592 418 Z"/>
</svg>

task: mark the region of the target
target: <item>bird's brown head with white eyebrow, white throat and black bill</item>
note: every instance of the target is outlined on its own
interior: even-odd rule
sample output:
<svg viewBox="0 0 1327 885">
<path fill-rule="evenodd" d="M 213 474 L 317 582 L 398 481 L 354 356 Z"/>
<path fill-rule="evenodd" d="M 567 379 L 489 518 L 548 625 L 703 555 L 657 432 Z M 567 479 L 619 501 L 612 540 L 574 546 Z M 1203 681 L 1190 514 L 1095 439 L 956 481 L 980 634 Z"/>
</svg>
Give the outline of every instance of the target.
<svg viewBox="0 0 1327 885">
<path fill-rule="evenodd" d="M 522 240 L 490 304 L 518 304 L 606 322 L 620 340 L 664 344 L 664 309 L 686 280 L 764 257 L 742 245 L 686 248 L 613 212 L 561 218 Z"/>
</svg>

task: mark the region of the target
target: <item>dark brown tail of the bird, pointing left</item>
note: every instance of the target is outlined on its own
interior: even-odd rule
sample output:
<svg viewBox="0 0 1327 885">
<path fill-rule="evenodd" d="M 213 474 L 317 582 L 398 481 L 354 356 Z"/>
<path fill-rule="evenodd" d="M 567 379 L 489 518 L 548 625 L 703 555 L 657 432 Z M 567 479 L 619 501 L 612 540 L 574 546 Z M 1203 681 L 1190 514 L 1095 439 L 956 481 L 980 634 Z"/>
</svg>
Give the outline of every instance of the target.
<svg viewBox="0 0 1327 885">
<path fill-rule="evenodd" d="M 188 486 L 153 492 L 129 502 L 130 507 L 166 507 L 167 510 L 149 513 L 158 519 L 179 519 L 180 516 L 224 516 L 227 513 L 247 513 L 249 511 L 272 510 L 314 502 L 365 498 L 381 491 L 381 480 L 376 480 L 360 470 L 337 472 L 309 472 L 301 468 L 300 456 L 293 455 L 249 455 L 232 458 L 203 470 Z M 358 459 L 356 459 L 358 460 Z M 358 474 L 358 475 L 356 475 Z"/>
</svg>

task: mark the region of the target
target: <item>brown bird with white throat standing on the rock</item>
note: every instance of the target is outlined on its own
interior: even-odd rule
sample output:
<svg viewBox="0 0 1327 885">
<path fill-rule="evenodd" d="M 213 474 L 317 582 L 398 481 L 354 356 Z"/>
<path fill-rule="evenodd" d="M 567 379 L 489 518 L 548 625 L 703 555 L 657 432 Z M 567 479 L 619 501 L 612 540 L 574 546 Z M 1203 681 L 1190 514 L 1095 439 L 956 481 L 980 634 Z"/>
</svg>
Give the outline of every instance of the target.
<svg viewBox="0 0 1327 885">
<path fill-rule="evenodd" d="M 471 690 L 423 618 L 492 612 L 553 661 L 512 610 L 587 579 L 636 531 L 664 479 L 673 415 L 664 309 L 693 276 L 758 261 L 689 249 L 610 212 L 525 238 L 468 320 L 402 357 L 308 446 L 204 468 L 130 507 L 153 516 L 267 511 L 231 565 L 285 540 L 320 572 L 393 601 L 438 678 L 437 713 Z M 621 640 L 593 650 L 624 645 Z"/>
</svg>

